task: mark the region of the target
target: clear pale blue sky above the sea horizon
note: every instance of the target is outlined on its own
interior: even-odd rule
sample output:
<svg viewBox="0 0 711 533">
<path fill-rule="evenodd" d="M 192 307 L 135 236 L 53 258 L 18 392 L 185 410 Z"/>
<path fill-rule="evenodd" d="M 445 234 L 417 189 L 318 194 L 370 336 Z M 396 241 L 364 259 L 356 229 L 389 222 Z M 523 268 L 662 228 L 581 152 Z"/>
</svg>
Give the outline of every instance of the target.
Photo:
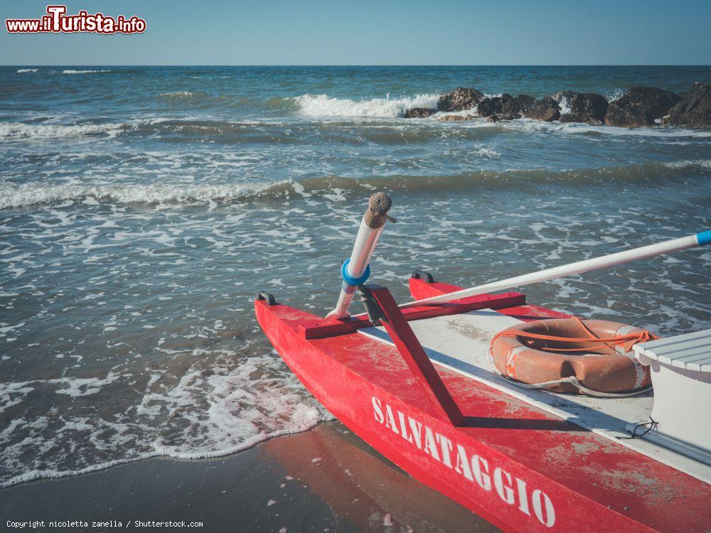
<svg viewBox="0 0 711 533">
<path fill-rule="evenodd" d="M 4 65 L 708 65 L 711 1 L 68 1 L 129 36 L 10 35 L 46 1 L 0 0 Z"/>
</svg>

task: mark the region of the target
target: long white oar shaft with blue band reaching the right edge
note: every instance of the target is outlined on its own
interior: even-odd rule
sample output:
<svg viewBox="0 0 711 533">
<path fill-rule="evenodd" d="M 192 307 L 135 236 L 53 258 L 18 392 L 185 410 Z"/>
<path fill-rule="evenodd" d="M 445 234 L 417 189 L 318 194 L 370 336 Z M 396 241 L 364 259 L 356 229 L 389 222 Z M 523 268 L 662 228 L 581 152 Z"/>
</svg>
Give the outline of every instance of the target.
<svg viewBox="0 0 711 533">
<path fill-rule="evenodd" d="M 442 294 L 441 296 L 422 298 L 421 300 L 402 303 L 400 307 L 407 308 L 434 303 L 445 303 L 452 300 L 459 300 L 459 298 L 476 296 L 477 294 L 486 294 L 493 291 L 506 291 L 507 289 L 540 283 L 541 281 L 548 281 L 549 279 L 562 278 L 565 276 L 572 276 L 573 274 L 582 274 L 583 272 L 589 272 L 591 270 L 604 269 L 608 266 L 615 266 L 616 264 L 636 261 L 637 259 L 647 259 L 648 257 L 669 254 L 671 252 L 677 252 L 678 250 L 701 247 L 705 244 L 711 244 L 711 230 L 700 232 L 695 235 L 689 235 L 688 237 L 681 237 L 680 239 L 672 239 L 670 241 L 659 242 L 657 244 L 650 244 L 649 246 L 625 250 L 624 252 L 617 252 L 616 254 L 604 255 L 602 257 L 586 259 L 584 261 L 564 264 L 562 266 L 555 266 L 555 268 L 552 269 L 531 272 L 530 274 L 523 274 L 522 276 L 502 279 L 501 281 L 492 281 L 491 283 L 470 287 L 469 289 L 461 289 L 461 291 Z"/>
</svg>

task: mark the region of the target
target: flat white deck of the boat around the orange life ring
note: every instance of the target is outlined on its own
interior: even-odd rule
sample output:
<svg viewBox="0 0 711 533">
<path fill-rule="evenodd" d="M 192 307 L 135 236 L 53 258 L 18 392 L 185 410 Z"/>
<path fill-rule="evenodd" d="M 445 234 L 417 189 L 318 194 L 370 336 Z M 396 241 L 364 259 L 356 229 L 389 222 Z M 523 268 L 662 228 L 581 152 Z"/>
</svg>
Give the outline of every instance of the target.
<svg viewBox="0 0 711 533">
<path fill-rule="evenodd" d="M 652 411 L 651 393 L 624 399 L 595 398 L 582 394 L 555 394 L 522 389 L 491 371 L 488 347 L 493 335 L 520 321 L 491 309 L 461 315 L 438 316 L 410 322 L 410 327 L 430 360 L 489 387 L 510 394 L 562 419 L 609 438 L 638 453 L 681 472 L 711 483 L 711 466 L 684 456 L 657 443 L 629 437 L 626 426 L 648 420 Z M 362 335 L 392 345 L 382 327 L 359 330 Z"/>
</svg>

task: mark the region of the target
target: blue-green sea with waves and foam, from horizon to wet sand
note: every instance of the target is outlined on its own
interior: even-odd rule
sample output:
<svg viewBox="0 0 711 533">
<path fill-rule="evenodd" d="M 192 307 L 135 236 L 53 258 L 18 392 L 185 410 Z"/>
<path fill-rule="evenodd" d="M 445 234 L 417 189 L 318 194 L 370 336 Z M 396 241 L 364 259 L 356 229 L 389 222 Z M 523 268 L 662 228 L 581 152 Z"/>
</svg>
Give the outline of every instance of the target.
<svg viewBox="0 0 711 533">
<path fill-rule="evenodd" d="M 336 303 L 368 196 L 371 279 L 463 286 L 711 227 L 711 129 L 405 119 L 457 86 L 619 97 L 692 67 L 0 68 L 0 486 L 238 451 L 328 419 L 252 298 Z M 525 289 L 661 335 L 711 325 L 711 252 Z M 358 310 L 358 304 L 353 304 Z"/>
</svg>

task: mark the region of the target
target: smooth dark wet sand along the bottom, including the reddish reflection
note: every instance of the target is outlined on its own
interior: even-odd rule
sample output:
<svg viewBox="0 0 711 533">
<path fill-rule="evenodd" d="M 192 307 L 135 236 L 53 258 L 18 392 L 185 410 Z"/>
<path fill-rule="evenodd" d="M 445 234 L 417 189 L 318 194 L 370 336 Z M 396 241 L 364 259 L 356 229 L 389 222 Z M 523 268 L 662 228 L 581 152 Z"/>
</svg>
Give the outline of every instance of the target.
<svg viewBox="0 0 711 533">
<path fill-rule="evenodd" d="M 338 421 L 220 459 L 149 459 L 16 485 L 0 490 L 0 518 L 3 528 L 7 520 L 46 522 L 35 531 L 57 531 L 53 520 L 89 523 L 75 531 L 117 531 L 117 522 L 136 529 L 137 520 L 203 522 L 198 530 L 210 532 L 498 531 Z"/>
</svg>

